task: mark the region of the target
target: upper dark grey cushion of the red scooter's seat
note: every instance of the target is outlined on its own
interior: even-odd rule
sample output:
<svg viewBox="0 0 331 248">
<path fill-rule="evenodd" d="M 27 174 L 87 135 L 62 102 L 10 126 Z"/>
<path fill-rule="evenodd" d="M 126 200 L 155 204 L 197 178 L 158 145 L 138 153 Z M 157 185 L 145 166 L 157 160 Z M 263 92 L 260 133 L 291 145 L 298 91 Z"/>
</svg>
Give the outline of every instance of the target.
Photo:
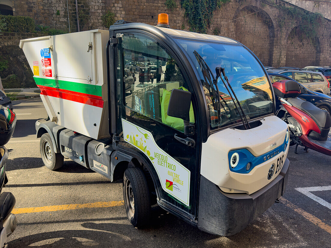
<svg viewBox="0 0 331 248">
<path fill-rule="evenodd" d="M 316 122 L 320 130 L 321 128 L 325 129 L 331 127 L 331 116 L 327 111 L 321 110 L 314 104 L 299 98 L 288 98 L 287 101 L 307 113 Z"/>
</svg>

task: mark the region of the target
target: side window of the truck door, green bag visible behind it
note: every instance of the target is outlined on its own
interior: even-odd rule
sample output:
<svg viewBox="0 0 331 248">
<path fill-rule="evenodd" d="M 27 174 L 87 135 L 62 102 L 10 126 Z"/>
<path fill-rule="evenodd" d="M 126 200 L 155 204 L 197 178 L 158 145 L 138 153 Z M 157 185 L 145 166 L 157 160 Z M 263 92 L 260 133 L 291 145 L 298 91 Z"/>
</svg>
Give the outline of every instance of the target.
<svg viewBox="0 0 331 248">
<path fill-rule="evenodd" d="M 172 89 L 190 90 L 175 59 L 159 42 L 140 33 L 125 33 L 118 48 L 125 71 L 130 74 L 131 68 L 133 76 L 132 83 L 123 84 L 126 115 L 152 118 L 183 132 L 183 120 L 167 115 Z M 195 122 L 192 104 L 190 122 Z"/>
</svg>

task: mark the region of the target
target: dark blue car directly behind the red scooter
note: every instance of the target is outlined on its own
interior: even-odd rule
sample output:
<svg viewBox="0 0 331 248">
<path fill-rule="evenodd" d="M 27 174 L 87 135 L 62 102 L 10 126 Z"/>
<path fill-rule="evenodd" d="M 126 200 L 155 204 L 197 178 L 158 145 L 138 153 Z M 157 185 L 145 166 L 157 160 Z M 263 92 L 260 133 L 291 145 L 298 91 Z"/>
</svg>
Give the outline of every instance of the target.
<svg viewBox="0 0 331 248">
<path fill-rule="evenodd" d="M 276 81 L 280 81 L 280 80 L 293 80 L 290 77 L 287 77 L 285 75 L 282 74 L 278 74 L 278 73 L 268 73 L 269 77 L 271 78 L 271 82 L 274 83 Z M 293 80 L 295 81 L 295 80 Z M 307 88 L 305 88 L 304 86 L 302 86 L 300 83 L 298 83 L 300 86 L 300 90 L 301 93 L 299 94 L 298 98 L 310 102 L 312 104 L 314 104 L 315 106 L 319 107 L 320 109 L 326 110 L 329 113 L 331 113 L 331 97 L 323 94 L 323 93 L 319 93 L 319 92 L 314 92 L 314 91 L 310 91 Z M 278 110 L 281 106 L 281 103 L 278 99 L 278 97 L 276 98 L 276 110 Z"/>
</svg>

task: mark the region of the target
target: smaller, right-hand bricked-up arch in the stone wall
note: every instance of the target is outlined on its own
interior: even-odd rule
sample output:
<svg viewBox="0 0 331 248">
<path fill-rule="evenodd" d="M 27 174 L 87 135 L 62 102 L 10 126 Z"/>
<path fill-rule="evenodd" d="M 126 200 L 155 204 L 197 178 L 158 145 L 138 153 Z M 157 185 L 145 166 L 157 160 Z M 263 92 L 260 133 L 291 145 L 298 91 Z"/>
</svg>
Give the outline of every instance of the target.
<svg viewBox="0 0 331 248">
<path fill-rule="evenodd" d="M 286 37 L 286 66 L 302 68 L 319 65 L 321 46 L 318 36 L 308 38 L 300 30 L 300 25 L 296 25 L 288 31 Z"/>
</svg>

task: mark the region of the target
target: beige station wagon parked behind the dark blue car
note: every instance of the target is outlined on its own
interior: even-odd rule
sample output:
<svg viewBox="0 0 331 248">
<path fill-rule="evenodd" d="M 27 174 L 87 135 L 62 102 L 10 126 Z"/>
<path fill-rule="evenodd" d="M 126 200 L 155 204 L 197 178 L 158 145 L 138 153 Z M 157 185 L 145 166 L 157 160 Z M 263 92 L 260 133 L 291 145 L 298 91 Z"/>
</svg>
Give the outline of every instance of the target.
<svg viewBox="0 0 331 248">
<path fill-rule="evenodd" d="M 330 83 L 320 72 L 303 69 L 272 69 L 268 70 L 269 72 L 288 76 L 311 91 L 330 95 Z"/>
</svg>

